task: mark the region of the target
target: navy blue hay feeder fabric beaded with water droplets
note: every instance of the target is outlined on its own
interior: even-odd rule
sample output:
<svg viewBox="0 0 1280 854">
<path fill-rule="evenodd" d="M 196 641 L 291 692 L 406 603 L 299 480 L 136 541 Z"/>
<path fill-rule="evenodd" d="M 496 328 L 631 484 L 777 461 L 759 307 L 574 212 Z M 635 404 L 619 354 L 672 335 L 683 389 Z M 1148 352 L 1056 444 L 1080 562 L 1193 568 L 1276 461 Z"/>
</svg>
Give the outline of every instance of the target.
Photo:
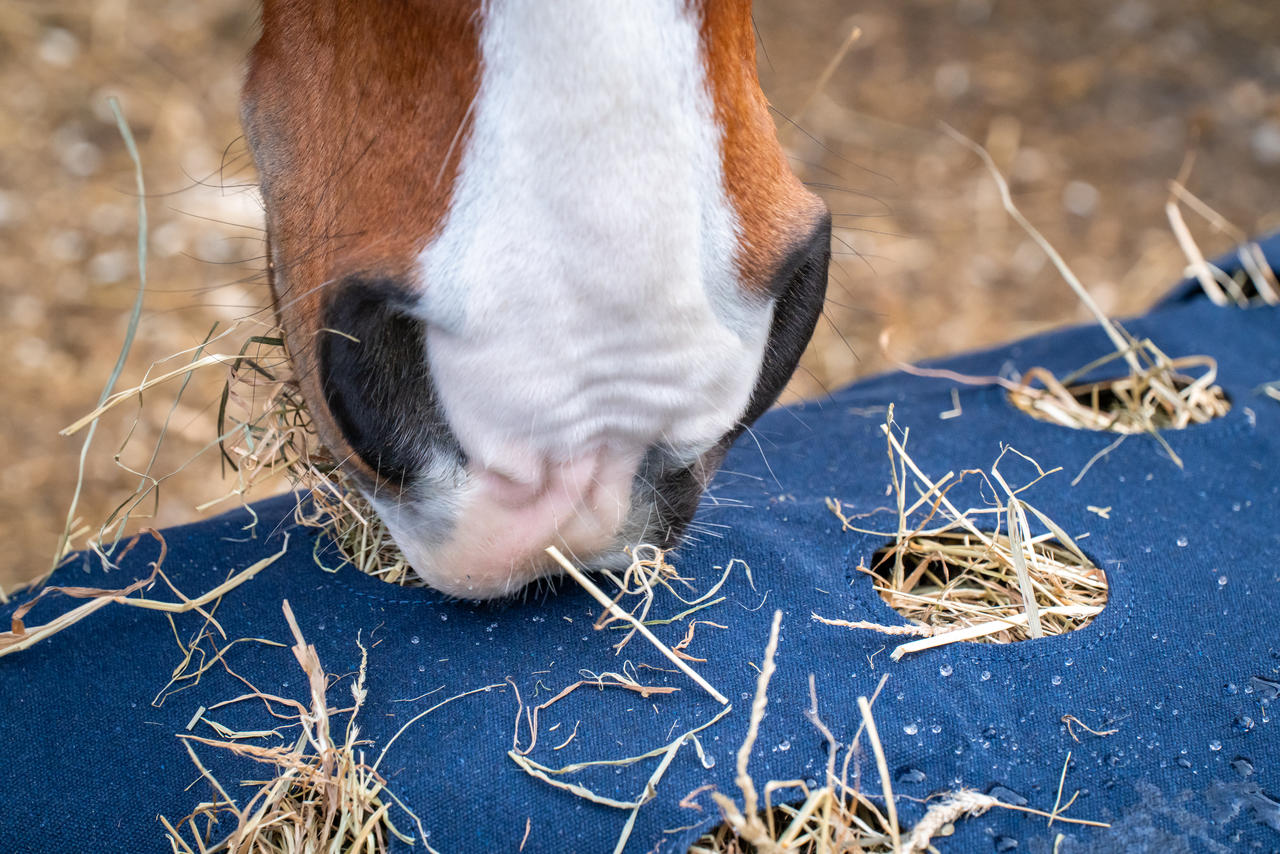
<svg viewBox="0 0 1280 854">
<path fill-rule="evenodd" d="M 1267 248 L 1277 264 L 1280 239 Z M 699 589 L 719 577 L 717 567 L 742 562 L 718 594 L 724 600 L 690 617 L 727 626 L 699 626 L 689 652 L 707 659 L 694 666 L 733 708 L 699 734 L 703 758 L 691 743 L 680 749 L 657 798 L 639 810 L 626 850 L 684 851 L 719 817 L 705 794 L 695 799 L 701 810 L 681 807 L 681 799 L 705 784 L 739 795 L 733 759 L 776 608 L 783 612 L 777 673 L 750 764 L 758 784 L 822 780 L 826 748 L 804 716 L 810 673 L 823 720 L 845 741 L 860 720 L 856 698 L 870 695 L 887 673 L 874 714 L 904 825 L 923 810 L 911 799 L 957 786 L 1002 786 L 996 791 L 1004 799 L 1050 810 L 1068 752 L 1064 800 L 1079 795 L 1066 814 L 1112 825 L 1048 827 L 1044 818 L 997 809 L 957 822 L 955 835 L 936 840 L 942 851 L 1012 850 L 1016 842 L 1019 851 L 1047 854 L 1060 834 L 1062 853 L 1280 850 L 1280 402 L 1257 391 L 1280 379 L 1280 310 L 1216 307 L 1183 287 L 1125 325 L 1170 356 L 1217 360 L 1234 406 L 1211 424 L 1166 434 L 1183 470 L 1156 442 L 1133 437 L 1073 488 L 1071 478 L 1112 435 L 1029 419 L 996 388 L 961 387 L 963 414 L 942 420 L 955 384 L 902 375 L 773 411 L 759 423 L 758 442 L 735 447 L 704 501 L 695 540 L 673 558 Z M 1080 328 L 942 365 L 975 375 L 1036 365 L 1062 374 L 1108 350 L 1101 330 Z M 1079 542 L 1111 585 L 1106 609 L 1091 625 L 1019 644 L 952 644 L 893 662 L 888 652 L 899 639 L 812 618 L 902 622 L 855 568 L 886 540 L 841 531 L 826 506 L 828 497 L 851 512 L 888 503 L 879 430 L 888 403 L 911 429 L 913 458 L 933 476 L 989 469 L 1004 444 L 1044 467 L 1062 466 L 1024 497 L 1073 535 L 1087 534 Z M 1029 479 L 1014 465 L 1002 470 Z M 196 595 L 279 551 L 288 536 L 287 554 L 225 595 L 216 617 L 229 639 L 288 641 L 280 613 L 287 598 L 325 668 L 338 675 L 358 666 L 358 632 L 370 647 L 360 716 L 370 757 L 442 699 L 495 686 L 412 723 L 381 761 L 390 789 L 442 851 L 516 850 L 522 839 L 525 851 L 611 851 L 627 819 L 626 810 L 588 803 L 516 767 L 507 755 L 516 731 L 512 685 L 526 704 L 545 702 L 582 673 L 625 672 L 678 689 L 648 698 L 580 689 L 549 707 L 529 757 L 556 767 L 660 748 L 721 711 L 668 672 L 643 639 L 614 656 L 611 644 L 622 632 L 593 630 L 599 606 L 572 584 L 475 606 L 392 588 L 349 567 L 330 574 L 315 556 L 333 563 L 332 548 L 293 528 L 292 507 L 292 498 L 257 504 L 256 525 L 238 510 L 169 530 L 164 570 Z M 1110 519 L 1089 507 L 1110 507 Z M 892 517 L 882 526 L 892 528 Z M 145 542 L 108 574 L 77 561 L 54 584 L 124 586 L 147 574 L 155 553 Z M 172 598 L 163 585 L 147 595 Z M 42 603 L 27 622 L 68 607 L 65 599 Z M 659 597 L 650 616 L 685 608 Z M 5 624 L 12 611 L 0 609 Z M 187 639 L 202 622 L 197 615 L 175 617 L 178 635 Z M 669 645 L 686 630 L 687 620 L 654 629 Z M 244 690 L 214 667 L 197 685 L 157 702 L 180 658 L 164 615 L 110 606 L 0 659 L 0 851 L 169 850 L 156 816 L 177 821 L 211 794 L 175 734 L 201 705 Z M 306 699 L 287 648 L 242 643 L 225 659 L 260 690 Z M 348 704 L 349 684 L 334 685 L 334 705 Z M 280 723 L 257 703 L 206 714 L 236 729 Z M 1115 732 L 1076 729 L 1076 741 L 1065 714 Z M 575 727 L 576 736 L 557 749 Z M 297 735 L 280 731 L 282 739 L 265 743 Z M 195 732 L 216 737 L 204 723 Z M 527 748 L 527 726 L 518 737 Z M 228 787 L 261 776 L 214 748 L 198 753 Z M 594 767 L 566 778 L 634 800 L 657 763 Z M 863 787 L 878 793 L 869 753 L 859 764 Z M 402 816 L 396 821 L 408 825 Z"/>
</svg>

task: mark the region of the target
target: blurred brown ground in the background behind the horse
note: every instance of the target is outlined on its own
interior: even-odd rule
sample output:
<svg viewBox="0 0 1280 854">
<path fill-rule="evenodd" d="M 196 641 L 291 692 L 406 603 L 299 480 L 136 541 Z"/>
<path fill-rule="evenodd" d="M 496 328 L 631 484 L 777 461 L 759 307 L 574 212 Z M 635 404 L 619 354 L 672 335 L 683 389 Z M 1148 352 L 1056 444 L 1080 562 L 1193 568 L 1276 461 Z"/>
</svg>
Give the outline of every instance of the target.
<svg viewBox="0 0 1280 854">
<path fill-rule="evenodd" d="M 759 0 L 755 17 L 765 92 L 781 114 L 810 101 L 801 129 L 780 127 L 840 227 L 792 397 L 883 370 L 884 328 L 916 360 L 1084 320 L 938 120 L 991 149 L 1024 213 L 1119 315 L 1181 273 L 1162 207 L 1188 152 L 1190 187 L 1222 215 L 1280 227 L 1274 0 Z M 146 312 L 119 387 L 215 323 L 269 321 L 237 127 L 253 26 L 250 0 L 0 5 L 0 585 L 49 563 L 79 451 L 58 430 L 96 403 L 137 287 L 132 166 L 109 95 L 137 134 L 151 218 Z M 861 38 L 810 99 L 854 26 Z M 1192 222 L 1207 252 L 1230 245 Z M 105 419 L 79 516 L 104 520 L 138 483 L 113 460 L 134 416 L 123 465 L 146 465 L 166 419 L 154 471 L 195 457 L 163 481 L 152 524 L 225 493 L 209 452 L 221 379 L 210 369 L 177 406 L 166 387 Z"/>
</svg>

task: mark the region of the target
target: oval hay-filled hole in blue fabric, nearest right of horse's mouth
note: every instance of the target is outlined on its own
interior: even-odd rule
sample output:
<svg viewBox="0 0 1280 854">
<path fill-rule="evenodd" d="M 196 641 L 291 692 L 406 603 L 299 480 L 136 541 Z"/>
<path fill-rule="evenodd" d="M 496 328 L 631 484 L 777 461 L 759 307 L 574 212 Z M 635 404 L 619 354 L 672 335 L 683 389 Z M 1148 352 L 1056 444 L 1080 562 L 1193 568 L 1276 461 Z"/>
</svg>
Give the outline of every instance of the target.
<svg viewBox="0 0 1280 854">
<path fill-rule="evenodd" d="M 916 534 L 879 548 L 870 568 L 884 602 L 922 636 L 965 629 L 964 640 L 1028 640 L 1089 625 L 1106 607 L 1107 577 L 1087 556 L 1048 535 L 1021 547 L 1021 561 L 1001 533 Z M 1021 567 L 1025 567 L 1025 579 Z M 1036 602 L 1028 612 L 1024 586 Z M 867 626 L 872 627 L 872 626 Z"/>
</svg>

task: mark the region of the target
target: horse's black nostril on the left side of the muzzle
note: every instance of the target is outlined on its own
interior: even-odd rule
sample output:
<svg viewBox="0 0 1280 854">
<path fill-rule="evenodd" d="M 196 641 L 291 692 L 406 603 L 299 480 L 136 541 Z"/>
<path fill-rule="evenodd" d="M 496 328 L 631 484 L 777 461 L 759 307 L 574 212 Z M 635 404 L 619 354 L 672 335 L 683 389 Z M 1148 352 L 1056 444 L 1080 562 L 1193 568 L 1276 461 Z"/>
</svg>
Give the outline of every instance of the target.
<svg viewBox="0 0 1280 854">
<path fill-rule="evenodd" d="M 380 480 L 403 487 L 433 451 L 461 456 L 440 414 L 424 326 L 389 279 L 337 286 L 316 341 L 325 406 L 351 449 Z"/>
</svg>

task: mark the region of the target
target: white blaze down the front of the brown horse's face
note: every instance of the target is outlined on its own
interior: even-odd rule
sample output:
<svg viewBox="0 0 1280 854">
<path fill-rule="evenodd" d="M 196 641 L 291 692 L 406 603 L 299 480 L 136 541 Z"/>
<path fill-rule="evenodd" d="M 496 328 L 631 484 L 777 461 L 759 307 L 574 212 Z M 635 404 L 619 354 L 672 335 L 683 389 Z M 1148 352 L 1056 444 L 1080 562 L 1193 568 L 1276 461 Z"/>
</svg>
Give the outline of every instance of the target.
<svg viewBox="0 0 1280 854">
<path fill-rule="evenodd" d="M 598 447 L 691 458 L 746 406 L 772 305 L 737 284 L 690 5 L 485 4 L 472 131 L 419 257 L 472 465 L 536 481 Z"/>
</svg>

